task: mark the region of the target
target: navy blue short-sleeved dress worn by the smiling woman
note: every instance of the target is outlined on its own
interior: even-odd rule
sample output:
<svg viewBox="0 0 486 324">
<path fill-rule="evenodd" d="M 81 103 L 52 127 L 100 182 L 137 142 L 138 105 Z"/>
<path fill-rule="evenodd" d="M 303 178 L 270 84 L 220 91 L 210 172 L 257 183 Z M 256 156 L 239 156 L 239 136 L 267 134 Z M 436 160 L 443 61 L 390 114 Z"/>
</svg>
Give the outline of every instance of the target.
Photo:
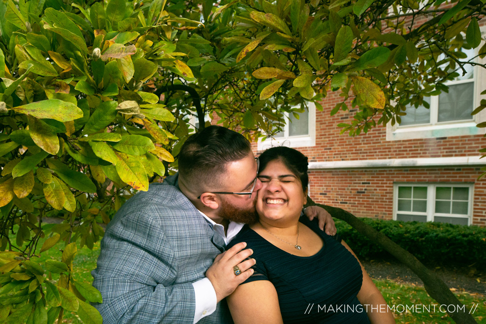
<svg viewBox="0 0 486 324">
<path fill-rule="evenodd" d="M 246 242 L 257 263 L 243 284 L 268 280 L 277 290 L 284 323 L 370 323 L 356 295 L 361 289 L 360 264 L 342 244 L 321 231 L 315 222 L 300 222 L 319 235 L 324 244 L 313 256 L 294 256 L 280 250 L 245 225 L 227 246 Z"/>
</svg>

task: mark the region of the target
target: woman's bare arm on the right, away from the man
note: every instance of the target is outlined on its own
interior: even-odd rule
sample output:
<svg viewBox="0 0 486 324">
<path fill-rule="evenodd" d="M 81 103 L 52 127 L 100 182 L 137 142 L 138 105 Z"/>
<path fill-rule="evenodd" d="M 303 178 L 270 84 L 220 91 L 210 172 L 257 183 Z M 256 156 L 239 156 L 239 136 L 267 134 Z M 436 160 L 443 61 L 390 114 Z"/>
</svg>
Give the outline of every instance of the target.
<svg viewBox="0 0 486 324">
<path fill-rule="evenodd" d="M 341 241 L 341 244 L 358 259 L 345 241 Z M 393 317 L 393 313 L 388 309 L 388 304 L 386 304 L 382 293 L 376 288 L 368 273 L 364 270 L 360 260 L 358 262 L 363 272 L 363 284 L 361 285 L 360 292 L 358 292 L 358 300 L 363 306 L 368 305 L 365 309 L 370 322 L 372 324 L 394 324 L 395 318 Z"/>
</svg>

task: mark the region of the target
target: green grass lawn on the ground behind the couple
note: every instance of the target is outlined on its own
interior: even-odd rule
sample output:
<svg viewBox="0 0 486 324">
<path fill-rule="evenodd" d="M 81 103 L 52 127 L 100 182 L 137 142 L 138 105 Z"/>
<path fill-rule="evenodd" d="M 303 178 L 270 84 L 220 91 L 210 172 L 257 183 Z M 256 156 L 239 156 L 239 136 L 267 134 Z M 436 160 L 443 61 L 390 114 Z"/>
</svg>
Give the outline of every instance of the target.
<svg viewBox="0 0 486 324">
<path fill-rule="evenodd" d="M 42 246 L 44 239 L 38 244 L 38 247 Z M 93 250 L 89 250 L 86 246 L 82 249 L 79 248 L 78 253 L 74 258 L 74 278 L 79 281 L 91 283 L 93 278 L 90 272 L 96 267 L 96 259 L 100 253 L 100 242 L 94 244 Z M 57 243 L 48 251 L 42 253 L 40 257 L 41 262 L 46 259 L 61 260 L 61 249 L 64 248 L 64 242 Z M 34 259 L 35 260 L 35 259 Z M 449 324 L 454 323 L 447 313 L 439 310 L 439 305 L 432 298 L 429 297 L 423 287 L 413 284 L 404 284 L 394 282 L 392 280 L 374 280 L 378 289 L 382 292 L 389 307 L 395 306 L 395 319 L 399 324 Z M 478 293 L 467 293 L 461 291 L 454 291 L 458 299 L 465 304 L 469 309 L 475 310 L 473 316 L 478 323 L 486 324 L 486 296 Z M 435 306 L 435 312 L 432 305 Z M 473 306 L 474 304 L 474 306 Z M 423 307 L 417 307 L 413 312 L 410 310 L 404 310 L 404 306 L 409 308 L 413 305 L 424 305 L 429 310 Z M 431 305 L 431 306 L 429 306 Z M 442 308 L 443 309 L 443 308 Z M 65 313 L 64 323 L 76 323 L 81 324 L 79 318 L 69 312 Z"/>
</svg>

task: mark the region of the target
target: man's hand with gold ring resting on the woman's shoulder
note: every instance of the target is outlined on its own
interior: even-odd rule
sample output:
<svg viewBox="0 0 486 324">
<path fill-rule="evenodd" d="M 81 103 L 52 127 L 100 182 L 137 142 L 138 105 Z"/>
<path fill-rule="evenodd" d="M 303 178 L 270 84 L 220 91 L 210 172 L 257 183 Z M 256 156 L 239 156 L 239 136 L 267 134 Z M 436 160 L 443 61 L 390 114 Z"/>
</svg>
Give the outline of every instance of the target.
<svg viewBox="0 0 486 324">
<path fill-rule="evenodd" d="M 253 274 L 253 269 L 250 269 L 250 267 L 255 265 L 256 261 L 255 259 L 243 261 L 253 254 L 251 249 L 243 250 L 245 247 L 246 243 L 241 242 L 216 256 L 213 264 L 206 271 L 206 277 L 213 285 L 214 291 L 216 291 L 218 303 L 235 291 L 239 284 Z M 240 268 L 241 273 L 239 275 L 234 273 L 234 266 Z"/>
</svg>

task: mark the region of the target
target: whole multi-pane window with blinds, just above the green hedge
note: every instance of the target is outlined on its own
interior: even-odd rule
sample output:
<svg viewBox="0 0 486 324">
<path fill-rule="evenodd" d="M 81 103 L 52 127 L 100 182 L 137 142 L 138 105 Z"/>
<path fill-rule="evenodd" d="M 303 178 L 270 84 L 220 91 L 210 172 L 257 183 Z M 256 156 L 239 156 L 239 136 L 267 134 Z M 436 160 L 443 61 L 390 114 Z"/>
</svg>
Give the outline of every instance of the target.
<svg viewBox="0 0 486 324">
<path fill-rule="evenodd" d="M 395 184 L 393 219 L 469 225 L 472 185 Z"/>
</svg>

